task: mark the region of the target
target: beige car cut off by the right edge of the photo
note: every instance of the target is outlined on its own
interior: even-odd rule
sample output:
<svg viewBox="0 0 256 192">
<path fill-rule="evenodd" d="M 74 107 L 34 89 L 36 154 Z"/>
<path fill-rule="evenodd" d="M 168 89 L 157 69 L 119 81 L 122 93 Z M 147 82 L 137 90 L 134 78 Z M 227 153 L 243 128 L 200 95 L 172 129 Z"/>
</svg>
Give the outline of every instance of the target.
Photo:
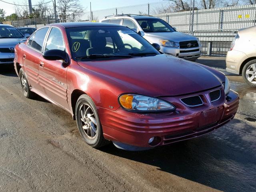
<svg viewBox="0 0 256 192">
<path fill-rule="evenodd" d="M 256 87 L 256 26 L 238 31 L 226 56 L 226 71 L 242 74 L 246 83 Z"/>
</svg>

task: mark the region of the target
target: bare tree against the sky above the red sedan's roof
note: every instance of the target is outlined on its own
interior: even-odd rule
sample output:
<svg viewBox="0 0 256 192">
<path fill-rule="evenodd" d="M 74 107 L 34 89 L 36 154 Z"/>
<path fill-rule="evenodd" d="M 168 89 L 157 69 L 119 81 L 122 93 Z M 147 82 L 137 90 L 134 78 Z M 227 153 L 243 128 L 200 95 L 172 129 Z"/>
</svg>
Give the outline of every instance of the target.
<svg viewBox="0 0 256 192">
<path fill-rule="evenodd" d="M 79 0 L 58 0 L 57 8 L 61 22 L 77 20 L 85 11 Z"/>
</svg>

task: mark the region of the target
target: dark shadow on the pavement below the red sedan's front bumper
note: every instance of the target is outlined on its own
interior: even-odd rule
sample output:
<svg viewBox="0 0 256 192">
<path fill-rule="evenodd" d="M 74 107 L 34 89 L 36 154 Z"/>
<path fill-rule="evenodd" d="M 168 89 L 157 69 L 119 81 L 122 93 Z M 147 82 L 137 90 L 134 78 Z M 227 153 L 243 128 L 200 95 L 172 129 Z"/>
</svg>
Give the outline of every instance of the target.
<svg viewBox="0 0 256 192">
<path fill-rule="evenodd" d="M 254 191 L 256 153 L 252 149 L 256 144 L 232 129 L 243 126 L 246 134 L 255 131 L 254 126 L 234 119 L 232 125 L 206 136 L 148 151 L 124 151 L 114 145 L 101 150 L 218 190 Z"/>
</svg>

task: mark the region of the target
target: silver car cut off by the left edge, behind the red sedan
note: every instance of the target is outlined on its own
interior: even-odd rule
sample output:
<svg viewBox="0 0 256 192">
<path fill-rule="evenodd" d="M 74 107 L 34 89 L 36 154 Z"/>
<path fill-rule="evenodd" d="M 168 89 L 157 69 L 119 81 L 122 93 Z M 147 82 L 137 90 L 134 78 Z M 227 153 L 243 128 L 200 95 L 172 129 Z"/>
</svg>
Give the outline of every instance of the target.
<svg viewBox="0 0 256 192">
<path fill-rule="evenodd" d="M 25 34 L 29 36 L 29 34 Z M 15 27 L 0 24 L 0 66 L 13 64 L 14 47 L 18 43 L 25 42 L 27 38 Z"/>
</svg>

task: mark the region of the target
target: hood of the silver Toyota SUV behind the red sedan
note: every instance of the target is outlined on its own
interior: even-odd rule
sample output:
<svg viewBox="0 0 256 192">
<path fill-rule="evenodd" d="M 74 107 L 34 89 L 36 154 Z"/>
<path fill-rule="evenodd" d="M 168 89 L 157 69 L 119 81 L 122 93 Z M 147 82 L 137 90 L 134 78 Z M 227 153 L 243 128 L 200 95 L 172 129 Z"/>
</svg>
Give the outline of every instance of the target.
<svg viewBox="0 0 256 192">
<path fill-rule="evenodd" d="M 196 37 L 185 34 L 182 32 L 156 32 L 156 33 L 147 33 L 146 36 L 148 38 L 157 38 L 158 40 L 164 39 L 164 40 L 170 40 L 174 41 L 176 43 L 181 42 L 181 41 L 190 41 L 190 40 L 197 40 Z M 145 38 L 146 38 L 145 36 Z"/>
</svg>

